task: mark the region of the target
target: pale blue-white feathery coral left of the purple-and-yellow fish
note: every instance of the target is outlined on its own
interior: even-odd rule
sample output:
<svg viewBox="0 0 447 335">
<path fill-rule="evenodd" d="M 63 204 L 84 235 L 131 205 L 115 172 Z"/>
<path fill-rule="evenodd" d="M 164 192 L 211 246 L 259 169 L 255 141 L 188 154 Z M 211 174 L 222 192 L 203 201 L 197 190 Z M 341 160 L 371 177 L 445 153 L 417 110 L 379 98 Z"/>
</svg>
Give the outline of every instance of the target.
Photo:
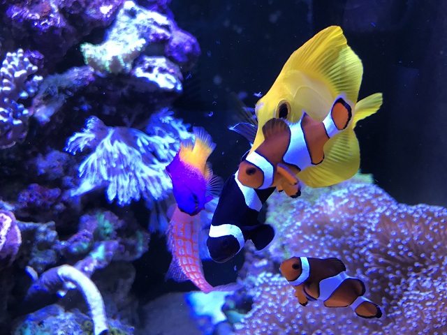
<svg viewBox="0 0 447 335">
<path fill-rule="evenodd" d="M 141 197 L 149 202 L 166 198 L 172 183 L 165 168 L 175 156 L 178 137 L 187 132 L 181 121 L 166 111 L 157 116 L 170 118 L 177 125 L 167 129 L 179 132 L 165 130 L 163 122 L 158 133 L 147 135 L 133 128 L 107 127 L 97 117 L 87 119 L 86 128 L 68 138 L 65 147 L 71 154 L 86 147 L 94 149 L 79 166 L 81 184 L 72 195 L 105 186 L 108 200 L 116 199 L 120 206 Z"/>
</svg>

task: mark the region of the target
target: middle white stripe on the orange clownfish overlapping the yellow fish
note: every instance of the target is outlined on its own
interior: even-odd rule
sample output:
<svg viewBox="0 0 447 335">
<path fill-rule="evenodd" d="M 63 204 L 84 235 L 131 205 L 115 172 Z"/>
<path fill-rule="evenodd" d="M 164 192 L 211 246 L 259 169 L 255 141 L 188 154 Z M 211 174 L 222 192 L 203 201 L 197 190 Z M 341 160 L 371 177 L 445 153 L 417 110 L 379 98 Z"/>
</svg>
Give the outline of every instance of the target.
<svg viewBox="0 0 447 335">
<path fill-rule="evenodd" d="M 304 117 L 305 112 L 303 112 L 302 115 Z M 309 168 L 309 166 L 312 165 L 312 158 L 307 149 L 305 134 L 302 132 L 301 121 L 302 117 L 296 124 L 289 124 L 291 129 L 291 139 L 293 139 L 293 141 L 288 144 L 288 149 L 286 154 L 284 154 L 283 159 L 284 162 L 298 166 L 300 170 L 305 170 L 305 168 Z"/>
</svg>

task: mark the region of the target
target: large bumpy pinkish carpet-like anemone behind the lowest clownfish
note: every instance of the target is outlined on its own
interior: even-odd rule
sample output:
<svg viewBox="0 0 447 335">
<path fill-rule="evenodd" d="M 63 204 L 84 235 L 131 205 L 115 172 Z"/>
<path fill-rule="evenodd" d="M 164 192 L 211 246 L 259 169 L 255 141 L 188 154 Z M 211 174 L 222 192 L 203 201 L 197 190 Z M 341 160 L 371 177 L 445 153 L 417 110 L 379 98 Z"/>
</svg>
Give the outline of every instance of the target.
<svg viewBox="0 0 447 335">
<path fill-rule="evenodd" d="M 245 281 L 254 308 L 236 325 L 237 333 L 446 334 L 447 209 L 399 204 L 370 184 L 334 189 L 313 205 L 282 194 L 270 197 L 267 223 L 275 226 L 277 239 L 268 251 L 248 255 Z M 341 259 L 351 276 L 367 284 L 366 296 L 381 304 L 385 315 L 363 320 L 350 308 L 300 306 L 277 271 L 291 255 Z M 256 272 L 261 275 L 250 276 Z M 281 292 L 270 295 L 274 290 Z"/>
</svg>

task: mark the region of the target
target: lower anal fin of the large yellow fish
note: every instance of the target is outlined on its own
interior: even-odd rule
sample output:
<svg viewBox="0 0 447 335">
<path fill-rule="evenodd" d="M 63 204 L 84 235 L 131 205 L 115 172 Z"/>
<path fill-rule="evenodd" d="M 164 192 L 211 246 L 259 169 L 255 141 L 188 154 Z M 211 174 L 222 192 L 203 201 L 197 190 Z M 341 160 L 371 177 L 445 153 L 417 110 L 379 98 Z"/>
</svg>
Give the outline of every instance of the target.
<svg viewBox="0 0 447 335">
<path fill-rule="evenodd" d="M 325 187 L 351 178 L 360 168 L 360 148 L 352 128 L 330 138 L 324 146 L 324 160 L 297 174 L 311 187 Z"/>
</svg>

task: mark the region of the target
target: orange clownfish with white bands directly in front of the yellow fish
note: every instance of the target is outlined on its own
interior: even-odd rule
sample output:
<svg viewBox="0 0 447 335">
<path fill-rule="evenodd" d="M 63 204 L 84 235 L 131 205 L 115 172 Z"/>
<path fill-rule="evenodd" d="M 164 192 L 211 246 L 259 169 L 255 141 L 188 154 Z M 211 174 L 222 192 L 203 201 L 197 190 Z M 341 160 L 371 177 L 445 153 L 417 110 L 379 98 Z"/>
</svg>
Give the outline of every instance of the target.
<svg viewBox="0 0 447 335">
<path fill-rule="evenodd" d="M 339 97 L 322 122 L 305 112 L 295 124 L 270 119 L 263 126 L 264 142 L 240 163 L 239 181 L 251 188 L 277 186 L 296 198 L 300 184 L 295 175 L 323 162 L 324 145 L 346 129 L 351 117 L 351 105 Z"/>
</svg>

